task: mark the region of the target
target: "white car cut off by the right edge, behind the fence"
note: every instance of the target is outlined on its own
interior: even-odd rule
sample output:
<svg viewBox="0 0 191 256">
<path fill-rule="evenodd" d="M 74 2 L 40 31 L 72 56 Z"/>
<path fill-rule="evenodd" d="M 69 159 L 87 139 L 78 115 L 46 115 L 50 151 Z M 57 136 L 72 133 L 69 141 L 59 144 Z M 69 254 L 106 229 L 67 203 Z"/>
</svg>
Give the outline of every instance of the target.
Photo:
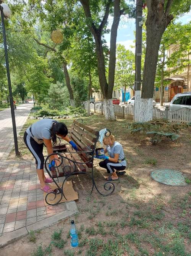
<svg viewBox="0 0 191 256">
<path fill-rule="evenodd" d="M 170 111 L 176 111 L 187 107 L 191 109 L 191 92 L 183 92 L 176 94 L 169 104 Z"/>
</svg>

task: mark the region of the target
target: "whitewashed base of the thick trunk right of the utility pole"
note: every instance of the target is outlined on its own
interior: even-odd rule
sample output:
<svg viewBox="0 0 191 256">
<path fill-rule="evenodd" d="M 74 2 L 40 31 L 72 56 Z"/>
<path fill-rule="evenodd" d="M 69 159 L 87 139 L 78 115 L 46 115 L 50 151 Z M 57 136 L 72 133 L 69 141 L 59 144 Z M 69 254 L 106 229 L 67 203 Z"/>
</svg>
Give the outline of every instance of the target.
<svg viewBox="0 0 191 256">
<path fill-rule="evenodd" d="M 139 113 L 139 122 L 147 122 L 152 120 L 152 111 L 153 111 L 153 99 L 143 99 L 141 98 L 140 104 L 140 113 Z"/>
</svg>

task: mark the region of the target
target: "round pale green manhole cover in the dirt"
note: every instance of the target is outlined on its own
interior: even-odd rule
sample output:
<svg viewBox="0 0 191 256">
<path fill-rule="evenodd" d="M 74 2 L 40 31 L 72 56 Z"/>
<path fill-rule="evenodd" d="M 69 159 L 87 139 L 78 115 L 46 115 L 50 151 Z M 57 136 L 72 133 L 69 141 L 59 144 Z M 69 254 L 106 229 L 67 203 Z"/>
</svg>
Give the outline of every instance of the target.
<svg viewBox="0 0 191 256">
<path fill-rule="evenodd" d="M 151 172 L 151 177 L 165 185 L 183 186 L 186 185 L 185 178 L 181 172 L 174 170 L 155 170 Z"/>
</svg>

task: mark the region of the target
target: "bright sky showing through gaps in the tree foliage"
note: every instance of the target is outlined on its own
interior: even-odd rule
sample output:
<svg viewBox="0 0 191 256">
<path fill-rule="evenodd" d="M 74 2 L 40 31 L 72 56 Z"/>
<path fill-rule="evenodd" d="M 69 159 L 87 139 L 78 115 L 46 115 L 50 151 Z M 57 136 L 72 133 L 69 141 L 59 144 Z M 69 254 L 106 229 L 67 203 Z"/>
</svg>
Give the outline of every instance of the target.
<svg viewBox="0 0 191 256">
<path fill-rule="evenodd" d="M 112 25 L 112 17 L 108 18 L 108 28 L 111 28 Z M 176 20 L 177 22 L 182 22 L 183 24 L 191 21 L 191 11 L 185 13 L 181 18 Z M 117 43 L 124 45 L 127 50 L 135 51 L 135 48 L 131 48 L 131 45 L 134 46 L 133 41 L 135 40 L 135 19 L 128 19 L 127 17 L 122 17 L 120 20 L 120 24 L 117 32 Z M 105 40 L 107 41 L 107 45 L 110 46 L 110 34 L 104 35 Z"/>
</svg>

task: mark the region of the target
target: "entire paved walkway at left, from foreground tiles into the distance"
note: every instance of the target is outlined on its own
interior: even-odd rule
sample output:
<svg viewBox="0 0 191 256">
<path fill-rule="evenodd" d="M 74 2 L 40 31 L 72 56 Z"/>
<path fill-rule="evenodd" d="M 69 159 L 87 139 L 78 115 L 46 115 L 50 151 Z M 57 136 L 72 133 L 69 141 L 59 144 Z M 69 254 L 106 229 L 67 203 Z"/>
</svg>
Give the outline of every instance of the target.
<svg viewBox="0 0 191 256">
<path fill-rule="evenodd" d="M 17 107 L 15 117 L 18 134 L 32 106 L 33 104 L 29 103 Z M 59 212 L 71 215 L 71 211 L 70 213 L 66 211 L 65 203 L 45 206 L 34 162 L 8 161 L 7 157 L 13 145 L 11 111 L 6 109 L 0 111 L 0 236 L 2 238 L 33 223 L 39 221 L 42 223 L 42 220 L 52 215 L 59 216 Z M 6 239 L 9 240 L 9 237 Z"/>
</svg>

